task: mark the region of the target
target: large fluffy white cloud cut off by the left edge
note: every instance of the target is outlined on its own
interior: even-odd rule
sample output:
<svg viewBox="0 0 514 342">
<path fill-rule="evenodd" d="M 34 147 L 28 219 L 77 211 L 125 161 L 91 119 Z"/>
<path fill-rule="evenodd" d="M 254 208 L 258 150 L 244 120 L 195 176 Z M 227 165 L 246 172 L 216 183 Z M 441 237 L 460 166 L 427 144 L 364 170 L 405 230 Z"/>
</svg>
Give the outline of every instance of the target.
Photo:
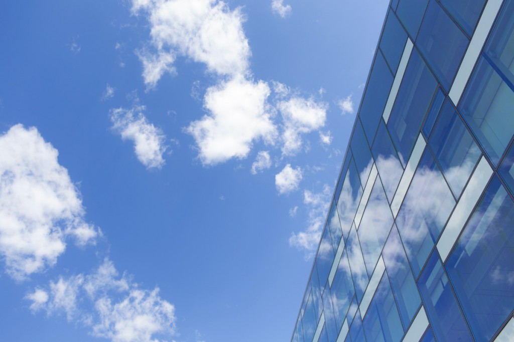
<svg viewBox="0 0 514 342">
<path fill-rule="evenodd" d="M 34 127 L 11 127 L 0 136 L 0 254 L 16 279 L 56 263 L 66 238 L 94 242 L 80 194 L 58 151 Z M 43 296 L 37 298 L 41 301 Z"/>
</svg>

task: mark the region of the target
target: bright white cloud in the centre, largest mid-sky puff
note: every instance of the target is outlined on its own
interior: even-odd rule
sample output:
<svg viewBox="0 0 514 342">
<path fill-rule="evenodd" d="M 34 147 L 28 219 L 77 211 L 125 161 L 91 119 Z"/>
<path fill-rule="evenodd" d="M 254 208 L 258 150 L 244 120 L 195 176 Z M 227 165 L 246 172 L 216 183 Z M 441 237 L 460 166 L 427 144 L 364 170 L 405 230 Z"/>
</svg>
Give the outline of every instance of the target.
<svg viewBox="0 0 514 342">
<path fill-rule="evenodd" d="M 277 130 L 266 102 L 269 93 L 267 83 L 241 78 L 207 89 L 204 106 L 210 115 L 186 128 L 204 165 L 245 158 L 254 140 L 273 143 Z"/>
</svg>

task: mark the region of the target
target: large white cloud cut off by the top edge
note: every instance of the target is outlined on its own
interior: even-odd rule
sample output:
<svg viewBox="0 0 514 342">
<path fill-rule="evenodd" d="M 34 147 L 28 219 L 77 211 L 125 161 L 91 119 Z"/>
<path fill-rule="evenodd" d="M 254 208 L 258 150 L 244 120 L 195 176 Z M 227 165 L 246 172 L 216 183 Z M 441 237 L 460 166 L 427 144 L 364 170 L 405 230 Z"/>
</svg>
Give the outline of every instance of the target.
<svg viewBox="0 0 514 342">
<path fill-rule="evenodd" d="M 132 4 L 133 13 L 148 15 L 157 53 L 179 53 L 221 75 L 247 73 L 251 52 L 239 8 L 230 10 L 217 0 L 133 0 Z"/>
</svg>

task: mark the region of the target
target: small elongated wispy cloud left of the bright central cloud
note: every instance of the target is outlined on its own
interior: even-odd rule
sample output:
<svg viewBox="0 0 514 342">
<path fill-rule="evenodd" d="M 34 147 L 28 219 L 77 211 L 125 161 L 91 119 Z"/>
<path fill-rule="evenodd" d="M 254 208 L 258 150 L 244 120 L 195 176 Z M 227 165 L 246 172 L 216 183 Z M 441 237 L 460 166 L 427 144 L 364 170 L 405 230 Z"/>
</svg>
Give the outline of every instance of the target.
<svg viewBox="0 0 514 342">
<path fill-rule="evenodd" d="M 113 129 L 123 140 L 132 140 L 137 159 L 147 168 L 161 168 L 164 165 L 162 154 L 167 146 L 162 131 L 149 123 L 143 115 L 144 106 L 131 109 L 117 108 L 111 110 Z"/>
</svg>

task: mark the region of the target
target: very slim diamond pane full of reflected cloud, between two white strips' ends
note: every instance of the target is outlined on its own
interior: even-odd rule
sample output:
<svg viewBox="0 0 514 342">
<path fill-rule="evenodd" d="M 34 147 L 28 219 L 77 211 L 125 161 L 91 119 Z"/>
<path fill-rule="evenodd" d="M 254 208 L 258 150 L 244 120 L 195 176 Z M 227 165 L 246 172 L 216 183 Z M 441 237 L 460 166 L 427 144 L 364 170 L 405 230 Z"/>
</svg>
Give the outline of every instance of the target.
<svg viewBox="0 0 514 342">
<path fill-rule="evenodd" d="M 355 292 L 357 299 L 362 299 L 364 290 L 368 286 L 368 272 L 366 272 L 366 265 L 360 248 L 359 238 L 355 231 L 355 225 L 352 226 L 348 241 L 346 242 L 346 252 L 348 254 L 348 261 L 350 262 L 350 269 L 352 270 L 352 278 L 354 280 Z"/>
</svg>

